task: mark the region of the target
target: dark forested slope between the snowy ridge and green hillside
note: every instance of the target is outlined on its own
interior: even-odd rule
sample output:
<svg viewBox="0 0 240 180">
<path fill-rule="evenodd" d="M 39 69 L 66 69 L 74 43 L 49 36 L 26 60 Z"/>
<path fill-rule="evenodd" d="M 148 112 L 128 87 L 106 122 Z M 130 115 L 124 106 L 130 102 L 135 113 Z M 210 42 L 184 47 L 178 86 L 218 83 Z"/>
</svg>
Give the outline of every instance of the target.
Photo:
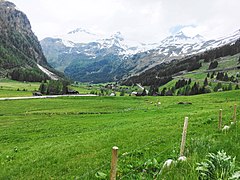
<svg viewBox="0 0 240 180">
<path fill-rule="evenodd" d="M 232 38 L 229 38 L 229 40 L 232 41 Z M 223 39 L 220 39 L 218 42 L 215 41 L 213 45 L 216 45 L 216 43 L 222 44 L 222 41 Z M 224 39 L 224 41 L 229 42 L 226 38 Z M 139 75 L 131 76 L 123 80 L 122 84 L 133 85 L 136 83 L 140 83 L 145 86 L 158 88 L 159 86 L 164 85 L 167 82 L 171 81 L 172 78 L 175 76 L 181 76 L 183 74 L 186 74 L 187 72 L 192 72 L 194 70 L 201 68 L 202 63 L 211 64 L 213 63 L 213 61 L 216 63 L 217 61 L 224 59 L 223 57 L 233 56 L 238 53 L 240 53 L 240 38 L 234 40 L 234 42 L 227 43 L 225 45 L 204 51 L 202 53 L 188 55 L 181 59 L 174 59 L 171 61 L 163 62 L 159 65 L 156 65 L 144 71 Z M 234 61 L 234 59 L 231 59 L 231 61 Z M 224 68 L 227 69 L 229 67 Z M 232 68 L 239 69 L 240 67 L 236 66 L 231 67 L 230 69 Z"/>
</svg>

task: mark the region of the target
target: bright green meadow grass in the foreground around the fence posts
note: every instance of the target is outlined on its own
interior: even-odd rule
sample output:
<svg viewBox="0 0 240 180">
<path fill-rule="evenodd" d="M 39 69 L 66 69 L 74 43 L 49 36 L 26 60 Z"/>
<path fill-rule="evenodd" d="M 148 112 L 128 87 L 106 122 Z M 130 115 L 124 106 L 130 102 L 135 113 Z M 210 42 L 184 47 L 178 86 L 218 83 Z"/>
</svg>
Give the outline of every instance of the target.
<svg viewBox="0 0 240 180">
<path fill-rule="evenodd" d="M 119 178 L 152 179 L 144 164 L 178 157 L 185 116 L 188 161 L 157 178 L 197 179 L 196 162 L 208 152 L 224 149 L 240 162 L 238 128 L 217 131 L 218 110 L 230 124 L 239 94 L 0 101 L 0 179 L 94 179 L 97 171 L 109 174 L 115 145 Z"/>
</svg>

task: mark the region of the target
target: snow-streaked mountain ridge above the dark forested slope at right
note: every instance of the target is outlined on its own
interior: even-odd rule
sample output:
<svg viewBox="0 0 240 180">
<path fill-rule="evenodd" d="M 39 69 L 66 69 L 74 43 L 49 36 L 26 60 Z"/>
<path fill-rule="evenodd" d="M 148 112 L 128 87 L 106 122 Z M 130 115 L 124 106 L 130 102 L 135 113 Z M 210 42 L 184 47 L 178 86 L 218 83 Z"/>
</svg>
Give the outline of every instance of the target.
<svg viewBox="0 0 240 180">
<path fill-rule="evenodd" d="M 216 40 L 206 40 L 200 35 L 188 37 L 183 32 L 179 32 L 162 40 L 157 48 L 136 54 L 135 56 L 138 58 L 132 58 L 135 67 L 130 71 L 130 74 L 138 75 L 161 63 L 168 63 L 174 59 L 203 53 L 206 50 L 234 43 L 239 38 L 240 30 Z"/>
</svg>

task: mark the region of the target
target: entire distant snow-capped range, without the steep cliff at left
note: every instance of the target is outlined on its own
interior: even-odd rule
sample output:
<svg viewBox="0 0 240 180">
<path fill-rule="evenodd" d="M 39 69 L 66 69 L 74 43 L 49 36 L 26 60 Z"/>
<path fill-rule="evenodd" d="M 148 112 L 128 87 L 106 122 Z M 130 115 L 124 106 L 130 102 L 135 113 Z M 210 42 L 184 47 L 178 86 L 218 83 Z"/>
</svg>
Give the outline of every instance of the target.
<svg viewBox="0 0 240 180">
<path fill-rule="evenodd" d="M 109 37 L 77 28 L 65 35 L 41 41 L 51 66 L 80 82 L 111 82 L 139 75 L 173 59 L 202 53 L 240 38 L 240 31 L 215 40 L 182 31 L 161 42 L 144 44 L 130 41 L 117 32 Z"/>
</svg>

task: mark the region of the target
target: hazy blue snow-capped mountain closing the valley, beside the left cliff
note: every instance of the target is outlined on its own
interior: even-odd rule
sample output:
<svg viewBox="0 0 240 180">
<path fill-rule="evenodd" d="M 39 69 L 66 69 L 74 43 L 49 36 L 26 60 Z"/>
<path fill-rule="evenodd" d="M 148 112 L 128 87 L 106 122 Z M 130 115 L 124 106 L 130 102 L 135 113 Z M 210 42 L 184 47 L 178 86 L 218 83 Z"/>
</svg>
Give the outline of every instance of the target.
<svg viewBox="0 0 240 180">
<path fill-rule="evenodd" d="M 154 46 L 133 41 L 126 43 L 120 32 L 107 38 L 81 28 L 67 35 L 45 38 L 41 45 L 54 68 L 71 79 L 95 83 L 121 79 L 128 70 L 120 65 L 137 52 Z"/>
</svg>

